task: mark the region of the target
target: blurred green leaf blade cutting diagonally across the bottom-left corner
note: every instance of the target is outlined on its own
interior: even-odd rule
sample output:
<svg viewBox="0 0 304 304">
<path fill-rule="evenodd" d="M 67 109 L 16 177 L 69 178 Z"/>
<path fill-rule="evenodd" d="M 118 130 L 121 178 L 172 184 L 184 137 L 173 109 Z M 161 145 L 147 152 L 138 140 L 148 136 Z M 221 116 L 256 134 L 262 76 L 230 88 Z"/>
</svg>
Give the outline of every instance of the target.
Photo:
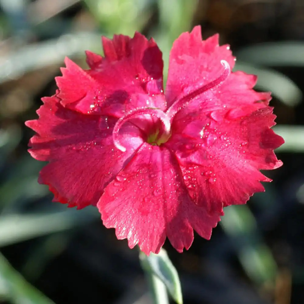
<svg viewBox="0 0 304 304">
<path fill-rule="evenodd" d="M 29 284 L 0 253 L 0 298 L 14 304 L 54 304 Z"/>
</svg>

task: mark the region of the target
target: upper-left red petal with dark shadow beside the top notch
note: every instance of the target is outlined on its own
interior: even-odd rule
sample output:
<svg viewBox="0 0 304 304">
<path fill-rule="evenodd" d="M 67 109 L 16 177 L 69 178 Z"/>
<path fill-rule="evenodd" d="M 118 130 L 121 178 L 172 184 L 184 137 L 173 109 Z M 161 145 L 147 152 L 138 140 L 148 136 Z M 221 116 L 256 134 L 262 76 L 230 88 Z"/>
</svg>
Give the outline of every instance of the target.
<svg viewBox="0 0 304 304">
<path fill-rule="evenodd" d="M 84 114 L 121 117 L 147 106 L 166 108 L 163 96 L 162 54 L 153 39 L 140 33 L 133 38 L 103 38 L 105 58 L 87 52 L 91 70 L 84 71 L 68 58 L 57 77 L 61 104 Z M 145 98 L 135 98 L 136 95 Z"/>
</svg>

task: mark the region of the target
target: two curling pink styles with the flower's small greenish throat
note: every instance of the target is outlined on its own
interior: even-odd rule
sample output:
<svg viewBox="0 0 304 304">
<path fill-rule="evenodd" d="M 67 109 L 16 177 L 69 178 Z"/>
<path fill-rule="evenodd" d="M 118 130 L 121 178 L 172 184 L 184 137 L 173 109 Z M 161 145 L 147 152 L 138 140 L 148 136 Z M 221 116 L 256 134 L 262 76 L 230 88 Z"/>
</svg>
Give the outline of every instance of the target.
<svg viewBox="0 0 304 304">
<path fill-rule="evenodd" d="M 203 94 L 204 92 L 212 88 L 221 85 L 223 81 L 227 79 L 227 77 L 230 74 L 230 66 L 226 60 L 221 60 L 221 64 L 224 66 L 225 69 L 218 78 L 209 82 L 206 85 L 202 85 L 201 87 L 195 89 L 194 91 L 177 99 L 167 110 L 166 113 L 164 113 L 160 109 L 142 107 L 131 110 L 129 113 L 119 118 L 113 129 L 113 141 L 116 148 L 123 152 L 126 151 L 126 148 L 120 143 L 118 139 L 119 129 L 121 128 L 121 126 L 130 119 L 134 119 L 140 115 L 147 115 L 147 114 L 152 117 L 153 116 L 157 117 L 163 125 L 162 128 L 157 128 L 147 137 L 147 143 L 150 143 L 151 145 L 154 146 L 156 145 L 160 146 L 162 143 L 167 142 L 171 136 L 171 123 L 175 114 L 181 109 L 183 109 L 185 106 L 187 106 L 189 102 L 193 100 L 195 97 Z"/>
</svg>

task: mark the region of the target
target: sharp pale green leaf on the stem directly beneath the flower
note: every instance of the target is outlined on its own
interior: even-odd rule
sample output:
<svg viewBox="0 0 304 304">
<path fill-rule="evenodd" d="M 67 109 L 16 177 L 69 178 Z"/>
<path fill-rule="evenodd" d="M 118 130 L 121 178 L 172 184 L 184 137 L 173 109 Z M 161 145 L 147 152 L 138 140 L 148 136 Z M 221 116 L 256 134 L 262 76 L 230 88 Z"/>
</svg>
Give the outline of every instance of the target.
<svg viewBox="0 0 304 304">
<path fill-rule="evenodd" d="M 182 304 L 181 283 L 167 252 L 161 249 L 159 254 L 151 253 L 150 256 L 140 252 L 140 261 L 147 273 L 156 275 L 161 280 L 174 301 Z"/>
</svg>

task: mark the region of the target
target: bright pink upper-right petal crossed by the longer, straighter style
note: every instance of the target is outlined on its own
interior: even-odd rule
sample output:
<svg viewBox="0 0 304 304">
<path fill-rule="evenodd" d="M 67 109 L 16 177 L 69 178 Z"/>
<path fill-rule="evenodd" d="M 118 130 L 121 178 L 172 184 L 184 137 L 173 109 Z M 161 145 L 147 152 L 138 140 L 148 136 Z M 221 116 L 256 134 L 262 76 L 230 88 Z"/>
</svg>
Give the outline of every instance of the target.
<svg viewBox="0 0 304 304">
<path fill-rule="evenodd" d="M 212 83 L 222 74 L 222 61 L 226 61 L 230 69 L 234 66 L 234 57 L 229 46 L 219 47 L 218 35 L 202 41 L 201 29 L 195 27 L 191 33 L 183 33 L 174 42 L 170 53 L 169 73 L 166 87 L 168 105 L 191 94 L 198 88 Z M 192 112 L 216 109 L 246 107 L 247 111 L 268 105 L 269 92 L 255 92 L 253 87 L 257 77 L 244 72 L 230 73 L 220 85 L 215 86 L 191 98 L 192 101 L 181 112 Z"/>
</svg>

